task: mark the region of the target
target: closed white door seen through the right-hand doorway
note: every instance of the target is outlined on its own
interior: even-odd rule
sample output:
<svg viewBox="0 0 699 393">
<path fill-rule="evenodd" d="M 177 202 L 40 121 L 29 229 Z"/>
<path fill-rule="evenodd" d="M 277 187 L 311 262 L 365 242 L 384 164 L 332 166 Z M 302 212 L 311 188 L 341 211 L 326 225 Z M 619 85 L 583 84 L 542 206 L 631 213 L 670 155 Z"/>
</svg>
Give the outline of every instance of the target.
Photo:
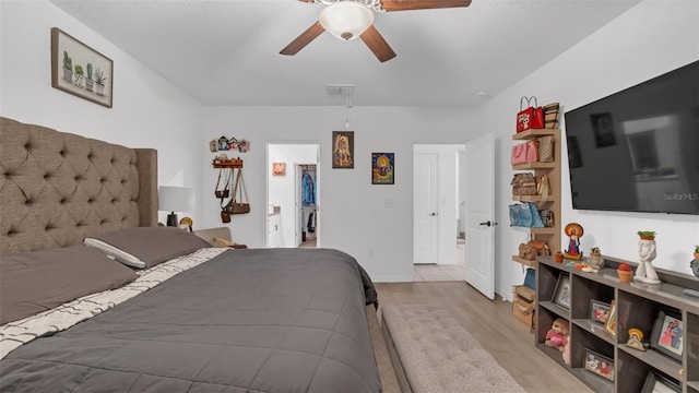
<svg viewBox="0 0 699 393">
<path fill-rule="evenodd" d="M 438 261 L 437 153 L 415 152 L 413 159 L 413 263 Z"/>
</svg>

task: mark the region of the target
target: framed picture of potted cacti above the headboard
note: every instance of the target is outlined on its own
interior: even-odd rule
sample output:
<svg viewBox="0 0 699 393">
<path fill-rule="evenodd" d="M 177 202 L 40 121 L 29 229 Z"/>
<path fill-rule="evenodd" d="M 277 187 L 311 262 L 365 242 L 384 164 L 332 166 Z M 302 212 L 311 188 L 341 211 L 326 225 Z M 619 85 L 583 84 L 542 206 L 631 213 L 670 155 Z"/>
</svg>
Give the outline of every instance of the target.
<svg viewBox="0 0 699 393">
<path fill-rule="evenodd" d="M 51 86 L 111 108 L 114 62 L 58 27 L 51 28 Z"/>
</svg>

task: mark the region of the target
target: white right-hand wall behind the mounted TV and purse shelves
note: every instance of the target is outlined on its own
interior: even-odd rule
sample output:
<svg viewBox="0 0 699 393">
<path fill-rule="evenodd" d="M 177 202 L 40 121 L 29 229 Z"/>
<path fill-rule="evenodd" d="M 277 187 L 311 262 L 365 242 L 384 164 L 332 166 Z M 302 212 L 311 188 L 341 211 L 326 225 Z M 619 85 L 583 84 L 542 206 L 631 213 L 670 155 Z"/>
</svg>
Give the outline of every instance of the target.
<svg viewBox="0 0 699 393">
<path fill-rule="evenodd" d="M 566 110 L 699 59 L 698 20 L 697 1 L 643 1 L 483 106 L 485 127 L 498 133 L 497 206 L 502 225 L 497 227 L 496 264 L 500 269 L 496 290 L 500 295 L 510 298 L 510 286 L 523 279 L 520 265 L 511 262 L 510 255 L 525 240 L 525 231 L 507 225 L 512 174 L 508 157 L 520 97 L 535 95 L 540 105 L 559 102 L 562 120 Z M 561 147 L 566 152 L 567 146 Z M 654 264 L 691 274 L 689 261 L 692 246 L 699 243 L 699 216 L 573 211 L 566 155 L 561 165 L 562 216 L 556 218 L 564 225 L 576 222 L 584 227 L 583 251 L 597 246 L 604 254 L 637 262 L 636 231 L 655 230 Z"/>
</svg>

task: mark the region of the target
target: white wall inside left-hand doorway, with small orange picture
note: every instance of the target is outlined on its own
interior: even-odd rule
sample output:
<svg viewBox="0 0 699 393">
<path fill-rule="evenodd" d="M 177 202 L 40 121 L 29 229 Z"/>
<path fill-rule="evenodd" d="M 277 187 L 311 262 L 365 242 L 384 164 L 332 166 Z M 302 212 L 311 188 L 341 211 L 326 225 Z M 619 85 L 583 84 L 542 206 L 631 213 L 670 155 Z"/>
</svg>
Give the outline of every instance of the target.
<svg viewBox="0 0 699 393">
<path fill-rule="evenodd" d="M 281 207 L 281 246 L 297 247 L 296 245 L 296 178 L 297 164 L 317 164 L 318 148 L 316 145 L 270 144 L 268 145 L 266 176 L 270 204 Z M 286 163 L 286 176 L 272 176 L 272 163 Z M 319 170 L 319 168 L 317 168 Z M 300 188 L 300 187 L 299 187 Z M 320 193 L 318 190 L 317 196 Z M 300 201 L 299 201 L 300 203 Z M 318 202 L 320 203 L 320 202 Z M 300 205 L 299 205 L 300 209 Z M 235 218 L 235 217 L 234 217 Z M 299 228 L 300 239 L 300 228 Z"/>
</svg>

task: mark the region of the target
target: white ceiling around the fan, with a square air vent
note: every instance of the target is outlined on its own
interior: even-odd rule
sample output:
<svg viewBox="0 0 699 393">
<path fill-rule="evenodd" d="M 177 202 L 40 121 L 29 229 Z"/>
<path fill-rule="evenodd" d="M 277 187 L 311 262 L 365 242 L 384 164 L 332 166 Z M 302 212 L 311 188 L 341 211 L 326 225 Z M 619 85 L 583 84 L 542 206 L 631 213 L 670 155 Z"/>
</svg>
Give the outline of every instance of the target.
<svg viewBox="0 0 699 393">
<path fill-rule="evenodd" d="M 279 55 L 317 21 L 320 4 L 51 2 L 208 106 L 344 105 L 327 84 L 356 85 L 356 106 L 477 106 L 639 0 L 473 0 L 469 8 L 379 13 L 375 26 L 398 53 L 384 63 L 360 39 L 329 33 L 296 56 Z"/>
</svg>

